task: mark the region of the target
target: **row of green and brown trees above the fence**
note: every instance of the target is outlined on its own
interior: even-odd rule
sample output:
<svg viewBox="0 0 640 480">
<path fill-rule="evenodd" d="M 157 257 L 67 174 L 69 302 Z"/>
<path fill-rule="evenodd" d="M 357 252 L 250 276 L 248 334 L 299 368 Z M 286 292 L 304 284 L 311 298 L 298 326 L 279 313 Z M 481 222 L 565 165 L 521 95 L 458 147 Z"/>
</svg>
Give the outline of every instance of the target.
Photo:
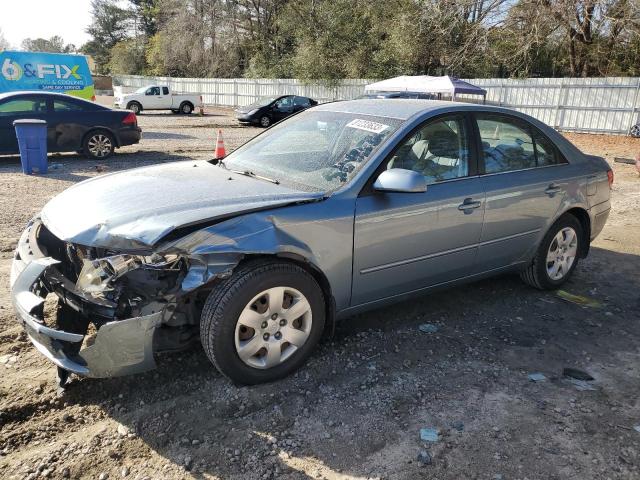
<svg viewBox="0 0 640 480">
<path fill-rule="evenodd" d="M 640 76 L 640 0 L 92 0 L 100 73 Z"/>
</svg>

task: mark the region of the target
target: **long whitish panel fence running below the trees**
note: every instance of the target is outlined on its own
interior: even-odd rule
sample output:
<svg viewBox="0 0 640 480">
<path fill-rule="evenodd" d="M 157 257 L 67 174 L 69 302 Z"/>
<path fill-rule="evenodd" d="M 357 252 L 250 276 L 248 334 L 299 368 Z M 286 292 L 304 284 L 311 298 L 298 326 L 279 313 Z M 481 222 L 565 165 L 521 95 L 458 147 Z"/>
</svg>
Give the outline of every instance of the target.
<svg viewBox="0 0 640 480">
<path fill-rule="evenodd" d="M 558 130 L 626 134 L 640 122 L 640 78 L 480 78 L 487 103 L 527 113 Z M 316 100 L 348 100 L 364 93 L 371 80 L 344 80 L 337 87 L 294 79 L 170 78 L 116 75 L 114 90 L 129 92 L 150 84 L 202 94 L 208 105 L 248 105 L 267 95 L 295 94 Z M 472 100 L 469 97 L 469 100 Z M 475 100 L 474 100 L 475 101 Z"/>
</svg>

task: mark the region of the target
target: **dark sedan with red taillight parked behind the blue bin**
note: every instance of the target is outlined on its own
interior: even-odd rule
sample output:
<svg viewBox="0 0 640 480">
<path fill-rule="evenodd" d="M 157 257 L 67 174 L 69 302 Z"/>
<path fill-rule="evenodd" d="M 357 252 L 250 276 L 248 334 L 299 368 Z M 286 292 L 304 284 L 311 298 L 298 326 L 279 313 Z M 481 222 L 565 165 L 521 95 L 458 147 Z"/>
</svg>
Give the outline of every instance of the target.
<svg viewBox="0 0 640 480">
<path fill-rule="evenodd" d="M 77 151 L 104 159 L 116 147 L 140 141 L 133 112 L 60 93 L 12 92 L 0 94 L 0 154 L 19 153 L 13 122 L 20 119 L 47 122 L 49 152 Z"/>
</svg>

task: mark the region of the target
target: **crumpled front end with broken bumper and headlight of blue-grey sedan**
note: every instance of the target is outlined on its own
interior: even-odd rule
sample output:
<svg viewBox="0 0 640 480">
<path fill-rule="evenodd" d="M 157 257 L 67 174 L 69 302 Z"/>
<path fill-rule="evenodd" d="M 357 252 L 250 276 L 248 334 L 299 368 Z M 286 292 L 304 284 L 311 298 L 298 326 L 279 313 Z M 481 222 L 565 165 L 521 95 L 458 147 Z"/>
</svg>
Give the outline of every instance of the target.
<svg viewBox="0 0 640 480">
<path fill-rule="evenodd" d="M 154 335 L 176 313 L 180 260 L 140 265 L 134 256 L 92 250 L 57 240 L 32 221 L 11 268 L 19 320 L 34 346 L 68 372 L 113 377 L 154 368 Z M 115 258 L 114 265 L 97 258 Z M 58 297 L 53 319 L 45 313 L 51 294 Z"/>
</svg>

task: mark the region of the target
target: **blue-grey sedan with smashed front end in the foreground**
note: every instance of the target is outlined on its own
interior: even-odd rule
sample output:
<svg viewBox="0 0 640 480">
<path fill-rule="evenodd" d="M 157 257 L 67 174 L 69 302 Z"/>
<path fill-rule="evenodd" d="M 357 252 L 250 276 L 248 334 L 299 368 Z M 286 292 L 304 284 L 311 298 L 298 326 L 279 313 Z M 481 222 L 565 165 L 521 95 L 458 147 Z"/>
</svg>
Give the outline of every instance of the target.
<svg viewBox="0 0 640 480">
<path fill-rule="evenodd" d="M 233 381 L 271 381 L 356 312 L 514 270 L 557 288 L 602 230 L 612 181 L 603 159 L 507 109 L 325 104 L 224 160 L 53 198 L 20 239 L 13 302 L 61 382 L 152 368 L 198 335 Z"/>
</svg>

